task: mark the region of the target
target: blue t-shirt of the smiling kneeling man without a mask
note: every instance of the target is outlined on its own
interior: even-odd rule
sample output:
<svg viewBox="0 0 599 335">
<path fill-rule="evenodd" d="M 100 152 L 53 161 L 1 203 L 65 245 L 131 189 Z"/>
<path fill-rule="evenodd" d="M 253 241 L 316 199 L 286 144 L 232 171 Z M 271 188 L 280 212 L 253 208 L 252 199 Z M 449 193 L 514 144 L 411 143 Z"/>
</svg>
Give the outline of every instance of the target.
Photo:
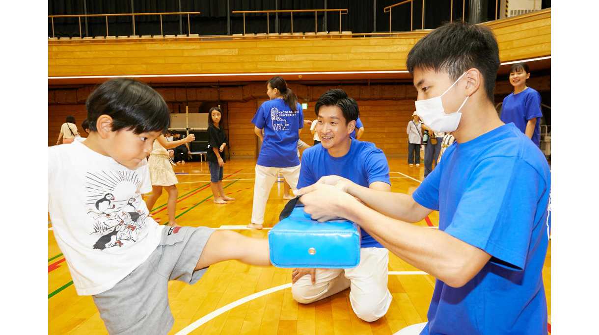
<svg viewBox="0 0 599 335">
<path fill-rule="evenodd" d="M 371 142 L 352 139 L 349 152 L 343 157 L 331 157 L 322 144 L 307 148 L 301 158 L 298 188 L 310 186 L 323 176 L 338 175 L 368 187 L 375 181 L 389 181 L 389 164 L 382 150 Z M 361 230 L 362 248 L 385 248 Z"/>
</svg>

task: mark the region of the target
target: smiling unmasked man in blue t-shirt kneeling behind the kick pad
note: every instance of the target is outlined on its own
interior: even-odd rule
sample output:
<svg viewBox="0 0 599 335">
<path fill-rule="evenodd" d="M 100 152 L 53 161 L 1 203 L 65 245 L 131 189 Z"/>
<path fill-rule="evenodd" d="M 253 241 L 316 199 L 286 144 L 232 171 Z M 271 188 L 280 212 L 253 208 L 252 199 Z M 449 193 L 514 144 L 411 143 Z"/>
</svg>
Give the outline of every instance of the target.
<svg viewBox="0 0 599 335">
<path fill-rule="evenodd" d="M 302 156 L 299 187 L 323 176 L 340 175 L 363 187 L 389 192 L 389 165 L 382 150 L 350 137 L 358 103 L 340 89 L 324 93 L 314 106 L 320 144 Z M 311 303 L 350 287 L 349 301 L 364 321 L 376 321 L 391 305 L 387 288 L 389 251 L 361 229 L 360 263 L 353 269 L 295 269 L 291 292 L 299 303 Z"/>
</svg>

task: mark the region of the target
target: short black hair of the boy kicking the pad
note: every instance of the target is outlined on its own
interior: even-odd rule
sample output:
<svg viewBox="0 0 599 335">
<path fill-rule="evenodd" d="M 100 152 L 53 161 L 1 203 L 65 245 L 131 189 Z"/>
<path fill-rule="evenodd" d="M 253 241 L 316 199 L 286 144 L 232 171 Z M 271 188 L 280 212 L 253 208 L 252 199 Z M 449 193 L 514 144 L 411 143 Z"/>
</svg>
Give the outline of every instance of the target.
<svg viewBox="0 0 599 335">
<path fill-rule="evenodd" d="M 89 130 L 96 132 L 100 115 L 113 118 L 112 129 L 135 134 L 164 133 L 171 123 L 170 111 L 162 96 L 147 84 L 129 78 L 114 78 L 101 84 L 87 98 Z"/>
</svg>

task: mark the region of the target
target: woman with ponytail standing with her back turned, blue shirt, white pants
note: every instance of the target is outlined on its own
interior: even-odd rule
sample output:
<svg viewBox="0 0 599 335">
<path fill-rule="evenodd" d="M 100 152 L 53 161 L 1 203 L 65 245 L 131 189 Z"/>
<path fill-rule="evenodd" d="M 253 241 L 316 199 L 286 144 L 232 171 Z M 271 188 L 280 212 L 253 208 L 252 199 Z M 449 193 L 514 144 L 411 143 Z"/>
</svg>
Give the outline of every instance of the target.
<svg viewBox="0 0 599 335">
<path fill-rule="evenodd" d="M 304 127 L 301 105 L 295 93 L 287 87 L 285 79 L 279 76 L 271 78 L 266 94 L 270 100 L 262 103 L 252 119 L 254 133 L 262 140 L 256 163 L 252 221 L 247 225 L 255 229 L 262 229 L 268 194 L 277 174 L 280 172 L 294 190 L 297 187 L 297 143 L 299 129 Z"/>
</svg>

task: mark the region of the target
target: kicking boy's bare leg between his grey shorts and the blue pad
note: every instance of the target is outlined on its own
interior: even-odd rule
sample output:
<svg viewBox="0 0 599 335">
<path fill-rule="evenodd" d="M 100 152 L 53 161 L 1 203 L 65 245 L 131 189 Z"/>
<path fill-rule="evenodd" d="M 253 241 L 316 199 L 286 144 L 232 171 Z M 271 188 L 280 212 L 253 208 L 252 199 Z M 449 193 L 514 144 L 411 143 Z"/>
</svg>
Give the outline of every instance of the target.
<svg viewBox="0 0 599 335">
<path fill-rule="evenodd" d="M 204 269 L 211 264 L 226 260 L 268 266 L 270 265 L 268 239 L 256 239 L 229 230 L 217 230 L 208 237 L 195 269 Z"/>
</svg>

